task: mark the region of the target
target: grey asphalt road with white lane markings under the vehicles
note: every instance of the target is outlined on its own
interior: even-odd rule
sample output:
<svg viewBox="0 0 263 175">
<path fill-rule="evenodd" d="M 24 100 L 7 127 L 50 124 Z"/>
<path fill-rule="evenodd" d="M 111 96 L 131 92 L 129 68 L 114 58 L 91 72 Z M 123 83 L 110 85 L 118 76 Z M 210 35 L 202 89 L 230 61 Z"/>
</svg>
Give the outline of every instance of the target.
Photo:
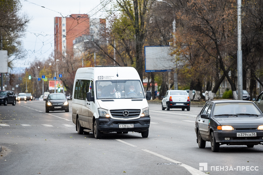
<svg viewBox="0 0 263 175">
<path fill-rule="evenodd" d="M 77 134 L 69 102 L 70 112 L 49 114 L 44 101 L 0 106 L 0 175 L 262 173 L 263 145 L 223 145 L 218 153 L 210 142 L 198 148 L 194 121 L 201 107 L 162 111 L 149 104 L 148 138 L 113 132 L 95 139 L 92 133 Z M 207 163 L 207 170 L 200 171 L 199 163 Z"/>
</svg>

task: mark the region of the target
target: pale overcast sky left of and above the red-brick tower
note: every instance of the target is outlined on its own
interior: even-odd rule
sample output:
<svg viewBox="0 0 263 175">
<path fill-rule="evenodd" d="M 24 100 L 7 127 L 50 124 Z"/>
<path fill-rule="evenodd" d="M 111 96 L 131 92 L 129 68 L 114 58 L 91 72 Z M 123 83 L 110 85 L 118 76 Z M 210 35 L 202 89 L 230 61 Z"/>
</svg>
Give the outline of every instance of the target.
<svg viewBox="0 0 263 175">
<path fill-rule="evenodd" d="M 21 13 L 26 13 L 31 20 L 28 23 L 25 37 L 21 38 L 27 56 L 24 60 L 14 61 L 14 67 L 18 67 L 17 69 L 29 67 L 35 60 L 44 60 L 51 55 L 54 51 L 54 17 L 79 13 L 93 15 L 103 7 L 99 5 L 101 1 L 103 0 L 21 0 Z M 103 3 L 106 1 L 109 0 L 104 0 Z M 110 5 L 109 3 L 107 6 Z M 96 6 L 98 7 L 95 8 Z M 93 8 L 95 9 L 92 10 Z M 93 17 L 98 17 L 103 13 L 105 13 L 104 9 Z"/>
</svg>

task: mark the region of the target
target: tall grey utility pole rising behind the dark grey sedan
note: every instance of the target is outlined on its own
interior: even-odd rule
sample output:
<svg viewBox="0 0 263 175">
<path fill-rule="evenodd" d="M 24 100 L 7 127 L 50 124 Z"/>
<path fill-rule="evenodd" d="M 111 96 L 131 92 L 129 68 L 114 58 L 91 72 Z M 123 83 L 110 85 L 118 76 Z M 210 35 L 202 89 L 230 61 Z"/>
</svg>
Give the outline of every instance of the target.
<svg viewBox="0 0 263 175">
<path fill-rule="evenodd" d="M 241 0 L 237 1 L 238 17 L 238 50 L 237 50 L 237 69 L 238 69 L 238 100 L 243 100 L 243 72 L 242 72 L 242 50 L 241 50 Z"/>
</svg>

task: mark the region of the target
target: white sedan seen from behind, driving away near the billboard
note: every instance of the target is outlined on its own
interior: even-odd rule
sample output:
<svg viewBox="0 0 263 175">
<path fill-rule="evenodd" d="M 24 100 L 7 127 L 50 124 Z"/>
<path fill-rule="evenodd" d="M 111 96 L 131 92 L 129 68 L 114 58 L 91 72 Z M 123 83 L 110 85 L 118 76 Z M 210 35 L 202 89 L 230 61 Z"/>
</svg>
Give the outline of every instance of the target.
<svg viewBox="0 0 263 175">
<path fill-rule="evenodd" d="M 190 111 L 190 98 L 187 91 L 169 90 L 162 99 L 162 110 L 169 111 L 171 108 L 181 108 L 182 111 Z"/>
</svg>

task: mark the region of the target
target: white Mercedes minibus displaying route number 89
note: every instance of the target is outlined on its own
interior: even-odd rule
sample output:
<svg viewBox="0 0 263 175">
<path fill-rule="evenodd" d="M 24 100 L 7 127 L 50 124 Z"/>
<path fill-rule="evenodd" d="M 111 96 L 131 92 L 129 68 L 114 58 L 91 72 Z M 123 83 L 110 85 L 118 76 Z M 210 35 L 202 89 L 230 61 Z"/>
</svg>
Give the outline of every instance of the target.
<svg viewBox="0 0 263 175">
<path fill-rule="evenodd" d="M 72 120 L 78 134 L 139 132 L 148 137 L 150 114 L 146 94 L 133 67 L 95 66 L 79 68 L 72 97 Z"/>
</svg>

